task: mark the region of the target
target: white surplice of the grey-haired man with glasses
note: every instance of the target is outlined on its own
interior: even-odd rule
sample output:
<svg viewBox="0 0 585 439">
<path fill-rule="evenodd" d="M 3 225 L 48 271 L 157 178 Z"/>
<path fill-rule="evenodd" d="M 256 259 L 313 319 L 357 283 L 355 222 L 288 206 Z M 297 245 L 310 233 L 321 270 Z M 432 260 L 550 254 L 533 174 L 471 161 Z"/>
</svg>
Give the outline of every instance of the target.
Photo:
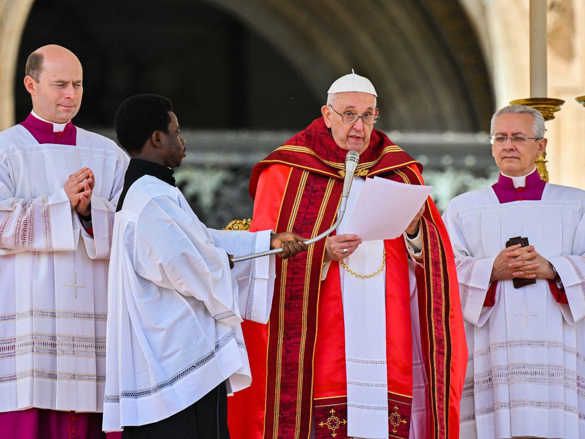
<svg viewBox="0 0 585 439">
<path fill-rule="evenodd" d="M 584 213 L 584 191 L 553 184 L 541 201 L 500 204 L 490 187 L 445 211 L 469 348 L 460 437 L 585 438 Z M 555 266 L 569 304 L 546 280 L 505 280 L 483 306 L 494 258 L 514 236 Z"/>
</svg>

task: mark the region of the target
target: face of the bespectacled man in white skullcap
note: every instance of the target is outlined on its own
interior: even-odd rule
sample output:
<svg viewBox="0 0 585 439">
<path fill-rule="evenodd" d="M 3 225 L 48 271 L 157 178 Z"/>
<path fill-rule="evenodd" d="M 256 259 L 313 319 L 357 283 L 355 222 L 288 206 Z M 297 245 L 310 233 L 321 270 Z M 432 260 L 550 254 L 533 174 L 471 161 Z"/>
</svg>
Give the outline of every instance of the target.
<svg viewBox="0 0 585 439">
<path fill-rule="evenodd" d="M 373 113 L 376 111 L 376 97 L 373 94 L 354 91 L 336 93 L 331 106 L 340 114 L 345 112 L 359 115 L 367 112 Z M 365 125 L 362 118 L 357 118 L 353 124 L 344 124 L 341 116 L 333 109 L 328 105 L 321 108 L 325 125 L 331 129 L 333 140 L 339 148 L 357 151 L 361 155 L 370 145 L 370 136 L 374 125 Z"/>
</svg>

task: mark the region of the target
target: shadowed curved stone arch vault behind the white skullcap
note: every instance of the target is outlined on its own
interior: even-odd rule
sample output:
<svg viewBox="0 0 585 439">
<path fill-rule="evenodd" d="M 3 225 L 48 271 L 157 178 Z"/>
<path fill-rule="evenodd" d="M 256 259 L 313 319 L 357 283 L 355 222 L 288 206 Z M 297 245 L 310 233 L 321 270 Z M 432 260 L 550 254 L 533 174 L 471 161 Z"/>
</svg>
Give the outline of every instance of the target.
<svg viewBox="0 0 585 439">
<path fill-rule="evenodd" d="M 205 1 L 278 47 L 321 100 L 335 78 L 355 68 L 376 86 L 390 117 L 386 128 L 486 129 L 491 78 L 459 2 Z"/>
</svg>

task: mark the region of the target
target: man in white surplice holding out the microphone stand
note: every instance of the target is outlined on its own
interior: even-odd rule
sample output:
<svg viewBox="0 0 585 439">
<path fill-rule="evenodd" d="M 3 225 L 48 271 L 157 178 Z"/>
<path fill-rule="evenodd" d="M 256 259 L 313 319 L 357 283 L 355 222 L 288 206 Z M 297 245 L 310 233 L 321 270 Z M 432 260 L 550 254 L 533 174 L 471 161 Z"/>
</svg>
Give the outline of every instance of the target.
<svg viewBox="0 0 585 439">
<path fill-rule="evenodd" d="M 116 135 L 132 159 L 113 233 L 108 281 L 104 430 L 122 437 L 228 438 L 226 393 L 250 385 L 240 328 L 266 323 L 274 256 L 307 247 L 292 233 L 208 229 L 175 187 L 185 156 L 171 102 L 122 103 Z M 230 265 L 233 269 L 230 270 Z"/>
</svg>

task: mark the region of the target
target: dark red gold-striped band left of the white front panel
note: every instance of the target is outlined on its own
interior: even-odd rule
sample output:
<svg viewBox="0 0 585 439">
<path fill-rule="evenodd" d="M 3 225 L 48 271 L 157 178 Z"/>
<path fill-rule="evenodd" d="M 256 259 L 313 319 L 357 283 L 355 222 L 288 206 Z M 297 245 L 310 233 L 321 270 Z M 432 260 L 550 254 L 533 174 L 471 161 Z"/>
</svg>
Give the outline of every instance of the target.
<svg viewBox="0 0 585 439">
<path fill-rule="evenodd" d="M 342 183 L 293 169 L 291 181 L 297 179 L 297 191 L 291 190 L 295 186 L 289 184 L 284 195 L 277 231 L 294 231 L 308 238 L 331 227 Z M 300 216 L 297 212 L 301 212 Z M 309 434 L 307 420 L 311 418 L 312 361 L 324 252 L 325 240 L 310 246 L 306 256 L 277 266 L 280 279 L 269 323 L 264 437 Z"/>
</svg>

